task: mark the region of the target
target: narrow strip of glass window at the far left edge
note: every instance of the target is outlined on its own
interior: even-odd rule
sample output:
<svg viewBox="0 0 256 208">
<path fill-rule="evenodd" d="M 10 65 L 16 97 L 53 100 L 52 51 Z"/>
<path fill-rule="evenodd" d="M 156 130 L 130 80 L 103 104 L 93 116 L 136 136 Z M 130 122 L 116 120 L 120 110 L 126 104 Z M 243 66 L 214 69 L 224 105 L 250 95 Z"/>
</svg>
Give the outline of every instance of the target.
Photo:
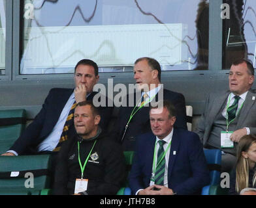
<svg viewBox="0 0 256 208">
<path fill-rule="evenodd" d="M 0 75 L 5 75 L 5 0 L 0 0 Z"/>
</svg>

